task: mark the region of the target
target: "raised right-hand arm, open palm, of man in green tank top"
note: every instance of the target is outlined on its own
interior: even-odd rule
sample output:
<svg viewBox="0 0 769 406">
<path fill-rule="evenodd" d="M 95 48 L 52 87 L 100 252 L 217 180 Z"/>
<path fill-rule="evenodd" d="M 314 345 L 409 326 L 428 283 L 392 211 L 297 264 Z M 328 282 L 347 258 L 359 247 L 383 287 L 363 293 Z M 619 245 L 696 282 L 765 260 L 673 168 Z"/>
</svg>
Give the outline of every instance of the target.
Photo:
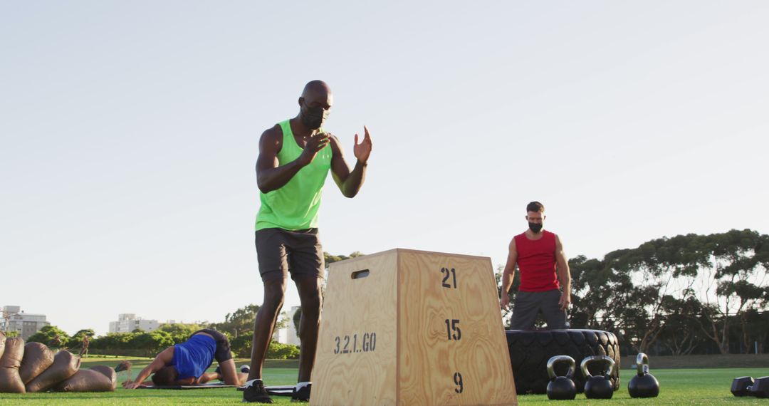
<svg viewBox="0 0 769 406">
<path fill-rule="evenodd" d="M 355 162 L 355 168 L 352 171 L 350 171 L 347 161 L 345 161 L 345 152 L 341 148 L 341 142 L 339 142 L 338 138 L 331 136 L 331 151 L 333 152 L 331 157 L 331 175 L 333 175 L 341 194 L 346 198 L 353 198 L 355 195 L 358 195 L 358 191 L 361 190 L 366 177 L 368 156 L 371 154 L 371 135 L 368 134 L 368 128 L 364 126 L 363 129 L 365 136 L 360 144 L 358 144 L 358 135 L 355 135 L 353 152 L 358 161 Z"/>
</svg>

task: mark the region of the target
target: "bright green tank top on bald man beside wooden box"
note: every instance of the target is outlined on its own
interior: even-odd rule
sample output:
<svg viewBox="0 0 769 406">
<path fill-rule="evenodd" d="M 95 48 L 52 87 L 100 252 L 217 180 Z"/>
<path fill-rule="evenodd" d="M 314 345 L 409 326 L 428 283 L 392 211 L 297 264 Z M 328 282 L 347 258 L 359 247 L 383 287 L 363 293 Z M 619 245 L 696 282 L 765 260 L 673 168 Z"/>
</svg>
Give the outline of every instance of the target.
<svg viewBox="0 0 769 406">
<path fill-rule="evenodd" d="M 289 121 L 280 123 L 283 146 L 278 152 L 278 165 L 286 165 L 301 155 Z M 321 128 L 321 131 L 323 129 Z M 255 229 L 284 228 L 305 230 L 318 228 L 318 208 L 321 206 L 323 184 L 331 168 L 331 145 L 318 151 L 310 165 L 299 169 L 282 188 L 268 193 L 259 192 L 261 207 L 256 215 Z"/>
</svg>

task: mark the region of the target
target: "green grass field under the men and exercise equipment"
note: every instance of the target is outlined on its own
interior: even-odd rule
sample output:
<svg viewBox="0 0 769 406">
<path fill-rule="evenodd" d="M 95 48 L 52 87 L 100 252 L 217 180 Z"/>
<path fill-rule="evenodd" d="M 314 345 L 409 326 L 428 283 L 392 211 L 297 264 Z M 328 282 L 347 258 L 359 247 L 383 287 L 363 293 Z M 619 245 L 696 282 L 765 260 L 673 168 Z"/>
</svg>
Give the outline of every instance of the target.
<svg viewBox="0 0 769 406">
<path fill-rule="evenodd" d="M 114 367 L 126 358 L 88 358 L 82 368 L 96 364 Z M 129 358 L 134 364 L 133 376 L 149 363 L 149 359 Z M 248 360 L 236 360 L 236 364 L 247 364 Z M 296 361 L 267 361 L 265 383 L 268 385 L 294 384 L 297 377 Z M 614 392 L 610 401 L 588 401 L 584 395 L 566 404 L 763 404 L 769 399 L 734 398 L 729 391 L 731 380 L 738 376 L 751 375 L 754 378 L 769 375 L 769 368 L 697 368 L 660 369 L 652 374 L 660 381 L 658 398 L 632 399 L 628 395 L 628 380 L 634 370 L 624 369 L 621 373 L 622 387 Z M 118 381 L 125 380 L 125 372 L 118 374 Z M 43 393 L 43 394 L 0 394 L 0 404 L 236 404 L 241 401 L 241 392 L 232 388 L 204 389 L 195 391 L 128 391 L 118 388 L 111 393 Z M 278 404 L 291 404 L 289 398 L 275 396 Z M 550 402 L 543 395 L 518 396 L 519 404 L 544 404 Z"/>
</svg>

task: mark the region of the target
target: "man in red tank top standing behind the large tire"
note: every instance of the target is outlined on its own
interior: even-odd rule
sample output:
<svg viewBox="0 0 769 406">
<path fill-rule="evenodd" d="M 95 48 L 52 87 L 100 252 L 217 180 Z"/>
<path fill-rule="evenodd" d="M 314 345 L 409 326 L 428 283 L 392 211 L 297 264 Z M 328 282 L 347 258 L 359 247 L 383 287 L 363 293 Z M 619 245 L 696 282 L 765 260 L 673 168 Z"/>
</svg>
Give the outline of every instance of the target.
<svg viewBox="0 0 769 406">
<path fill-rule="evenodd" d="M 521 286 L 515 295 L 513 330 L 531 330 L 537 314 L 542 311 L 548 329 L 568 328 L 566 309 L 571 303 L 571 273 L 558 235 L 542 229 L 544 206 L 532 201 L 526 206 L 529 228 L 510 241 L 508 263 L 502 274 L 502 298 L 506 308 L 515 275 L 515 265 L 521 271 Z"/>
</svg>

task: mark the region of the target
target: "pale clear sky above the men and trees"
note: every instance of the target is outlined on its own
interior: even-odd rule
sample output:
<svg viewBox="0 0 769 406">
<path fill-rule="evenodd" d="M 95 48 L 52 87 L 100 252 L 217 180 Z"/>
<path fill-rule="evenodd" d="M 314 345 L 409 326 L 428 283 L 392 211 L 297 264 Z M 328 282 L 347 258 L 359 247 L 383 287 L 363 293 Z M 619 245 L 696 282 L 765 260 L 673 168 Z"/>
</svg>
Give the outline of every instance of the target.
<svg viewBox="0 0 769 406">
<path fill-rule="evenodd" d="M 769 232 L 769 3 L 0 1 L 0 304 L 72 334 L 261 304 L 254 165 L 301 88 L 353 164 L 326 251 L 503 264 Z M 290 285 L 286 306 L 298 304 Z"/>
</svg>

